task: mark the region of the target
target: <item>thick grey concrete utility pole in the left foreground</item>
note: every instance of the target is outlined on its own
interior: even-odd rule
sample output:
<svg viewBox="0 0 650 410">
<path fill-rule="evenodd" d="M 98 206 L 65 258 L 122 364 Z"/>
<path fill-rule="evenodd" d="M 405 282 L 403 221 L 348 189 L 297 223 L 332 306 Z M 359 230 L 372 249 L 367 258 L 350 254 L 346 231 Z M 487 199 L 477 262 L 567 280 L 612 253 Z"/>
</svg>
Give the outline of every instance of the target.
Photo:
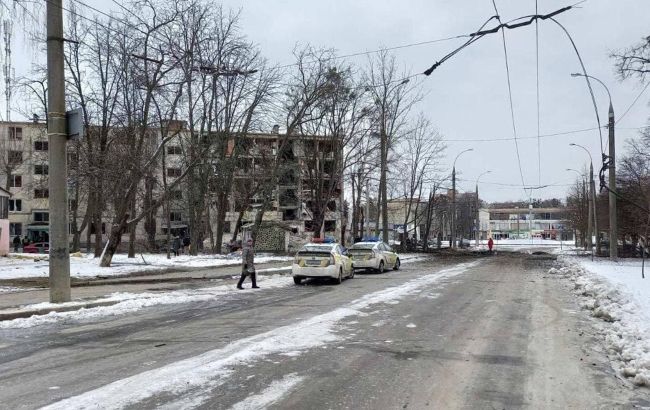
<svg viewBox="0 0 650 410">
<path fill-rule="evenodd" d="M 47 136 L 49 139 L 50 302 L 70 301 L 67 130 L 62 0 L 47 2 Z"/>
</svg>

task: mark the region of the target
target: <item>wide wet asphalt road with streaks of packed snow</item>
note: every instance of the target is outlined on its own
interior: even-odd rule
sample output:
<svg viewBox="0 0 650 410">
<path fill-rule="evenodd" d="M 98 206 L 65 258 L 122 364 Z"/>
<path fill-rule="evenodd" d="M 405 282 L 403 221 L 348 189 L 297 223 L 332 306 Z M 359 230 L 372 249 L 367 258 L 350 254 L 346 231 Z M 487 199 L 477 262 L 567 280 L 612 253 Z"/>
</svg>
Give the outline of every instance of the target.
<svg viewBox="0 0 650 410">
<path fill-rule="evenodd" d="M 0 329 L 0 407 L 650 406 L 647 389 L 616 377 L 547 263 L 434 259 L 338 286 Z"/>
</svg>

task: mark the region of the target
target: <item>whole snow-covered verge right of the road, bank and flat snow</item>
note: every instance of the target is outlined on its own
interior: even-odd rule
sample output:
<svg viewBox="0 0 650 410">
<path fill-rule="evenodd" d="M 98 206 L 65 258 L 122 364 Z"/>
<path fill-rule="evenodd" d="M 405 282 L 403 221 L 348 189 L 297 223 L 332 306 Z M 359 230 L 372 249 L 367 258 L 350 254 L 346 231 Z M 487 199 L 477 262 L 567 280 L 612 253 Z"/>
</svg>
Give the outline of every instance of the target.
<svg viewBox="0 0 650 410">
<path fill-rule="evenodd" d="M 599 330 L 616 370 L 650 386 L 650 272 L 641 277 L 639 259 L 562 257 L 561 264 L 549 273 L 571 278 L 582 306 L 603 320 Z"/>
</svg>

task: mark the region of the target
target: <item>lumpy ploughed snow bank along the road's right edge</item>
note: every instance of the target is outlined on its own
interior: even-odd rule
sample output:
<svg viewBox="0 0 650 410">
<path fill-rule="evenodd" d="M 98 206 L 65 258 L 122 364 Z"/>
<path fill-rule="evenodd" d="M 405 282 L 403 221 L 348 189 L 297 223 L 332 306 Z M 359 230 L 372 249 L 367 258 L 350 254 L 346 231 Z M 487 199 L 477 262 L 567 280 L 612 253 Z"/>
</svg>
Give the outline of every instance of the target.
<svg viewBox="0 0 650 410">
<path fill-rule="evenodd" d="M 584 298 L 582 307 L 605 322 L 599 330 L 616 370 L 633 378 L 636 385 L 650 386 L 650 285 L 646 286 L 649 292 L 645 297 L 637 300 L 623 278 L 618 278 L 621 283 L 610 281 L 605 275 L 585 269 L 586 261 L 565 258 L 562 264 L 548 273 L 571 279 L 574 292 Z M 607 269 L 607 263 L 601 265 Z M 634 274 L 640 278 L 639 270 Z"/>
</svg>

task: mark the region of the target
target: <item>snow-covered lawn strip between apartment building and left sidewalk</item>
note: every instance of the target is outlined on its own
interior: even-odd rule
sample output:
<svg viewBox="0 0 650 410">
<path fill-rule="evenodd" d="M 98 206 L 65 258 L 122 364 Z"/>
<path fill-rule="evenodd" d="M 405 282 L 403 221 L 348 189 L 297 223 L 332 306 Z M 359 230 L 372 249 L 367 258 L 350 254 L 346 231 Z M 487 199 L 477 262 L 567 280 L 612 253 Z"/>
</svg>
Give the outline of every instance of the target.
<svg viewBox="0 0 650 410">
<path fill-rule="evenodd" d="M 261 254 L 255 257 L 256 263 L 273 261 L 290 261 L 288 256 L 271 256 Z M 167 259 L 165 254 L 138 254 L 129 259 L 127 255 L 118 254 L 113 257 L 112 266 L 99 267 L 99 258 L 91 254 L 70 255 L 70 276 L 88 278 L 95 276 L 120 276 L 137 272 L 150 272 L 166 269 L 210 268 L 216 266 L 232 266 L 241 264 L 239 254 L 232 255 L 181 255 Z M 12 253 L 7 258 L 0 258 L 0 279 L 48 277 L 48 255 L 33 253 Z"/>
</svg>

